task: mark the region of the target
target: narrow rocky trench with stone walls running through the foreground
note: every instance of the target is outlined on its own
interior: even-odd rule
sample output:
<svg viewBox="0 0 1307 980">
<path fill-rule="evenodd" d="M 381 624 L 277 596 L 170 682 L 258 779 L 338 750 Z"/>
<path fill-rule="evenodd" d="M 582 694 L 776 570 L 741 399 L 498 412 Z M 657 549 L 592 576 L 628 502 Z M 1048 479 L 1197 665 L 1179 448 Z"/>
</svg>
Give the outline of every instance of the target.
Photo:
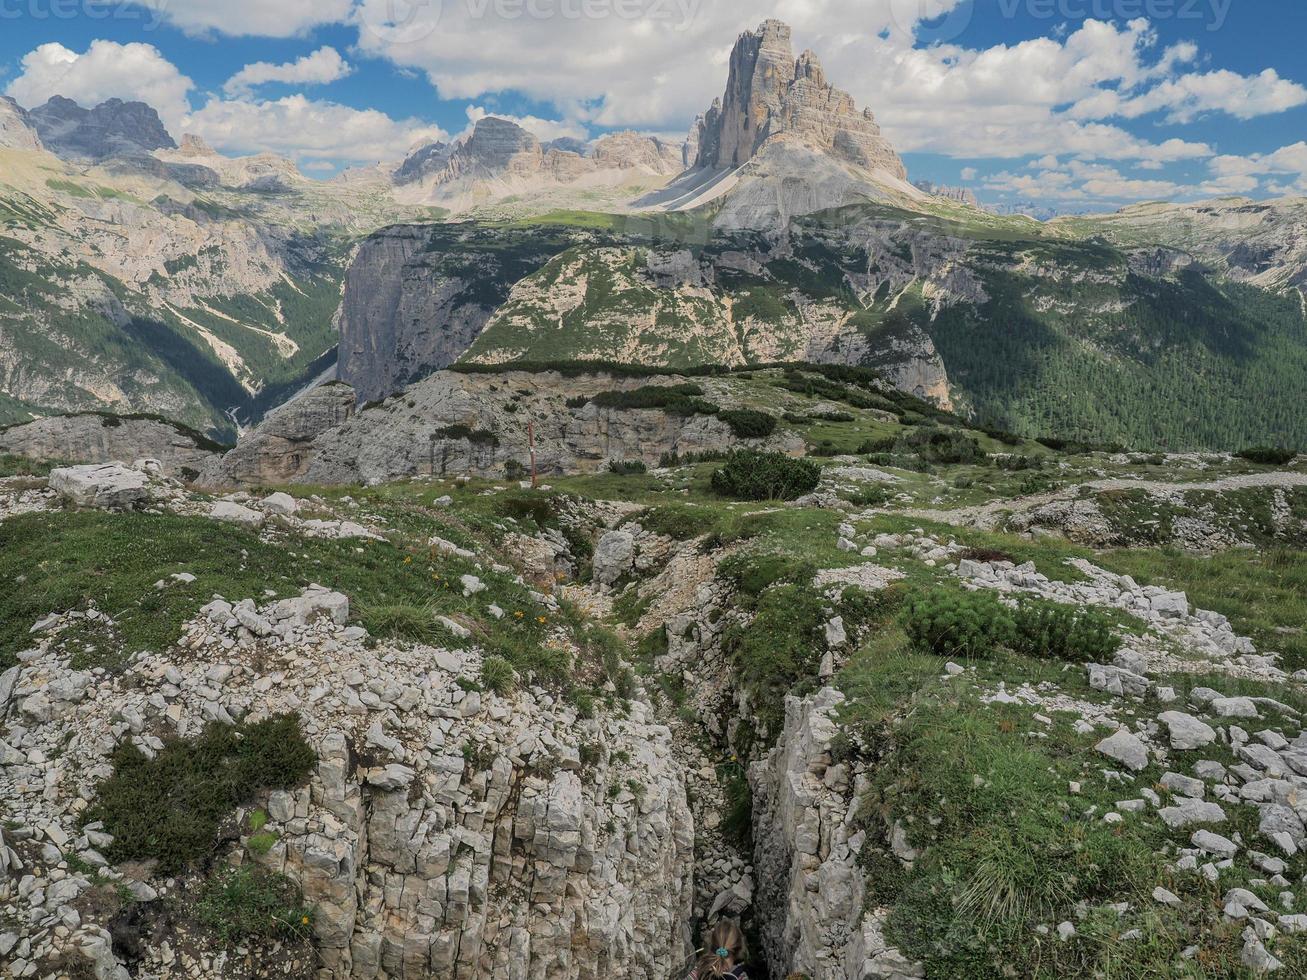
<svg viewBox="0 0 1307 980">
<path fill-rule="evenodd" d="M 642 546 L 665 549 L 637 529 L 633 553 Z M 850 843 L 857 775 L 831 758 L 843 696 L 823 689 L 787 698 L 783 730 L 758 747 L 759 719 L 723 647 L 728 629 L 749 621 L 716 575 L 728 554 L 706 557 L 694 544 L 663 554 L 661 571 L 638 584 L 652 605 L 629 632 L 633 643 L 665 636 L 646 690 L 672 730 L 694 817 L 690 936 L 698 949 L 715 921 L 735 919 L 749 941 L 750 977 L 863 977 L 864 963 L 885 950 L 868 949 L 878 932 L 864 936 L 861 925 L 860 839 Z M 693 962 L 684 966 L 680 976 Z"/>
</svg>

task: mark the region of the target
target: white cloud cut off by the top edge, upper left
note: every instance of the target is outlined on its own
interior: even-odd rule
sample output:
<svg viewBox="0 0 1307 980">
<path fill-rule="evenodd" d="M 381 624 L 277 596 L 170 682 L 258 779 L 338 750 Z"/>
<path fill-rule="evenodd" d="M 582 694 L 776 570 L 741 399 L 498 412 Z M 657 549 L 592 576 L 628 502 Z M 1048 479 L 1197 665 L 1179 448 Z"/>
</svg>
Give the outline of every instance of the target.
<svg viewBox="0 0 1307 980">
<path fill-rule="evenodd" d="M 122 8 L 123 0 L 90 0 Z M 289 38 L 349 18 L 353 0 L 135 0 L 146 27 L 171 24 L 187 34 Z"/>
</svg>

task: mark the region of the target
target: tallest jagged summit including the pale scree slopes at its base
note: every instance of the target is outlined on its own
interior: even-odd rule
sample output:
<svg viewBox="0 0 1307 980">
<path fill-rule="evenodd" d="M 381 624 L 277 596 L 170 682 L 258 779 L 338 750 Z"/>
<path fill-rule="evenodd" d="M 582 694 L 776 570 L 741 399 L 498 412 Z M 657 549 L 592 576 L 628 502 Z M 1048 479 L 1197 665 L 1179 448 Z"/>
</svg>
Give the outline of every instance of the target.
<svg viewBox="0 0 1307 980">
<path fill-rule="evenodd" d="M 860 201 L 904 204 L 923 192 L 869 108 L 826 78 L 817 55 L 793 55 L 788 25 L 740 35 L 725 94 L 690 132 L 690 169 L 640 205 L 689 210 L 719 201 L 719 227 L 771 229 Z"/>
</svg>

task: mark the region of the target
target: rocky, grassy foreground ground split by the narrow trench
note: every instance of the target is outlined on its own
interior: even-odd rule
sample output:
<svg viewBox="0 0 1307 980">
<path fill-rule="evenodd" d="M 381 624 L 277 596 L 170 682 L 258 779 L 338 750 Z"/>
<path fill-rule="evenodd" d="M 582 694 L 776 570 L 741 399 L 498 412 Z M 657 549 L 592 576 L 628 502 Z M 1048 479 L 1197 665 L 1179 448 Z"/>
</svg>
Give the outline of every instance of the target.
<svg viewBox="0 0 1307 980">
<path fill-rule="evenodd" d="M 1123 976 L 1303 968 L 1300 623 L 1253 635 L 1183 579 L 1120 571 L 1136 553 L 975 527 L 1010 499 L 928 514 L 893 466 L 835 460 L 788 506 L 715 502 L 707 472 L 214 495 L 141 463 L 0 483 L 7 549 L 43 523 L 144 541 L 141 521 L 183 521 L 238 538 L 244 583 L 205 592 L 201 554 L 161 559 L 140 600 L 187 610 L 165 643 L 127 639 L 135 605 L 25 613 L 0 674 L 9 975 L 672 977 L 719 916 L 758 972 L 814 980 L 1087 975 L 1107 949 Z M 1094 482 L 1183 503 L 1304 478 Z M 868 510 L 868 486 L 908 499 Z M 299 574 L 240 579 L 260 549 Z M 63 561 L 41 558 L 20 598 Z M 416 634 L 353 562 L 439 583 Z M 903 634 L 932 589 L 1098 610 L 1115 642 L 1087 662 L 941 656 Z M 257 743 L 284 717 L 311 764 L 234 801 L 199 858 L 105 809 L 128 757 L 176 764 L 207 730 Z M 1080 870 L 1044 891 L 989 853 L 1016 904 L 968 913 L 989 864 L 962 841 L 993 839 L 991 796 L 1022 783 L 1042 796 L 1008 818 L 1017 851 L 1052 821 L 1090 864 L 1050 852 L 1050 875 Z M 281 906 L 235 887 L 269 882 Z M 276 928 L 233 919 L 250 903 Z"/>
</svg>

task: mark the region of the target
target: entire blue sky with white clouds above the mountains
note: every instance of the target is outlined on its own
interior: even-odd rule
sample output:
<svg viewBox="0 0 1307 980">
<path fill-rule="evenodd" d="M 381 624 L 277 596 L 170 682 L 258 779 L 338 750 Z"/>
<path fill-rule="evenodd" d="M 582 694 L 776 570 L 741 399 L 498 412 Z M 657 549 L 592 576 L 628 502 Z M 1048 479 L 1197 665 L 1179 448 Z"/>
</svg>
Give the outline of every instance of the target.
<svg viewBox="0 0 1307 980">
<path fill-rule="evenodd" d="M 1061 210 L 1307 193 L 1295 0 L 0 0 L 0 91 L 140 98 L 329 176 L 488 112 L 678 139 L 767 16 L 914 178 Z"/>
</svg>

